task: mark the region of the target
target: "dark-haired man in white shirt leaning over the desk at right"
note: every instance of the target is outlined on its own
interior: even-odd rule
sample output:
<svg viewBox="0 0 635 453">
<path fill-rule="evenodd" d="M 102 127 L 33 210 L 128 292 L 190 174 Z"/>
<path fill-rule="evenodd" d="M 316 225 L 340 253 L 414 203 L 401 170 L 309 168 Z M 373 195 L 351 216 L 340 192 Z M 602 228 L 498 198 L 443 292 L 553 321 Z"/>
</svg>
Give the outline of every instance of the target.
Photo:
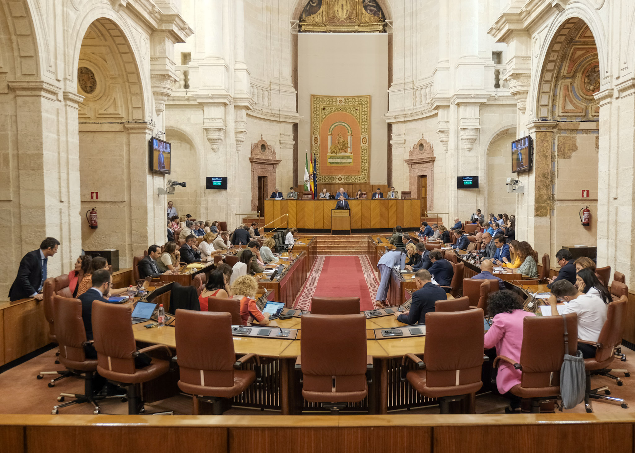
<svg viewBox="0 0 635 453">
<path fill-rule="evenodd" d="M 551 293 L 552 296 L 549 298 L 551 315 L 576 313 L 578 315 L 578 340 L 596 343 L 606 322 L 606 304 L 604 301 L 597 294 L 584 294 L 573 286 L 572 282 L 565 279 L 554 281 L 551 285 Z M 558 298 L 568 302 L 561 313 L 558 313 L 558 308 L 556 308 Z M 578 350 L 582 351 L 584 358 L 593 358 L 596 354 L 596 346 L 580 343 L 580 341 L 578 341 Z"/>
</svg>

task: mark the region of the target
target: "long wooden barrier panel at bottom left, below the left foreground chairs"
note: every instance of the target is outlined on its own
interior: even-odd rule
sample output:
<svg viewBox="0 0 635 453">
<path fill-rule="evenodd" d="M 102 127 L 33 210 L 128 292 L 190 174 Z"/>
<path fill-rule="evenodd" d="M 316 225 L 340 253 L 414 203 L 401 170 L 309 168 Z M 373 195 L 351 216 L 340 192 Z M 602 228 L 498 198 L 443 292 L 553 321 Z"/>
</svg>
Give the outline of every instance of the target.
<svg viewBox="0 0 635 453">
<path fill-rule="evenodd" d="M 28 453 L 51 450 L 51 439 L 72 440 L 76 452 L 227 452 L 227 428 L 211 426 L 28 426 L 26 437 Z"/>
</svg>

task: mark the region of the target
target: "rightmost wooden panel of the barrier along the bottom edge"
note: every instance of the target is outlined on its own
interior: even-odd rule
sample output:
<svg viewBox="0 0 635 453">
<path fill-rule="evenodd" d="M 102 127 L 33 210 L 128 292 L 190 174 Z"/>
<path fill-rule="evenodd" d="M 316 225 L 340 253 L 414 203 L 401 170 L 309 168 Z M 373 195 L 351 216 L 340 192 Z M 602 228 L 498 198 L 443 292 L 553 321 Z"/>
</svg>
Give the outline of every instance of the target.
<svg viewBox="0 0 635 453">
<path fill-rule="evenodd" d="M 531 445 L 532 452 L 632 452 L 632 424 L 543 424 L 514 426 L 435 426 L 434 453 L 490 453 L 491 439 L 505 439 L 507 445 Z"/>
</svg>

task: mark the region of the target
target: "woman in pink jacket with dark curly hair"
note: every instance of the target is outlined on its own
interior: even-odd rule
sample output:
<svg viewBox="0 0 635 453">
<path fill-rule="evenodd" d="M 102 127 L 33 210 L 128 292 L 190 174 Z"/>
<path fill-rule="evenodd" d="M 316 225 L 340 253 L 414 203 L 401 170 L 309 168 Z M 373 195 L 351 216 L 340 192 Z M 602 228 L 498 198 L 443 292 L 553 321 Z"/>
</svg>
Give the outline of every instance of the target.
<svg viewBox="0 0 635 453">
<path fill-rule="evenodd" d="M 497 291 L 487 299 L 487 310 L 493 316 L 490 329 L 485 332 L 485 349 L 496 347 L 496 355 L 504 355 L 514 362 L 520 362 L 523 345 L 525 317 L 535 316 L 523 310 L 523 301 L 515 292 Z M 498 365 L 496 386 L 498 393 L 509 399 L 511 405 L 505 407 L 505 414 L 520 413 L 521 398 L 511 393 L 512 387 L 520 384 L 522 372 L 503 360 Z"/>
</svg>

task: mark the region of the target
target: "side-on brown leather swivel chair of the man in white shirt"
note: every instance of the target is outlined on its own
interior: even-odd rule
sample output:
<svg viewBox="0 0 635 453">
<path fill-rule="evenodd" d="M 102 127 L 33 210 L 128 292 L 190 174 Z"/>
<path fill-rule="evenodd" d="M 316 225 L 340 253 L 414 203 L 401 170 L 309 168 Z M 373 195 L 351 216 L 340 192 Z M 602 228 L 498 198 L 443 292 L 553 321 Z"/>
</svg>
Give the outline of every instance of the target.
<svg viewBox="0 0 635 453">
<path fill-rule="evenodd" d="M 578 339 L 579 343 L 596 346 L 596 356 L 584 359 L 584 368 L 587 371 L 587 388 L 584 393 L 584 408 L 587 412 L 593 412 L 591 399 L 615 401 L 620 403 L 624 409 L 629 407 L 622 398 L 608 397 L 607 395 L 610 395 L 610 391 L 607 386 L 591 390 L 592 374 L 610 377 L 611 379 L 615 379 L 618 385 L 622 385 L 622 381 L 620 381 L 619 377 L 613 376 L 611 372 L 628 373 L 627 370 L 608 369 L 615 358 L 613 356 L 615 347 L 622 343 L 622 332 L 624 331 L 624 318 L 626 317 L 627 301 L 627 296 L 622 296 L 617 301 L 608 304 L 606 307 L 606 321 L 602 330 L 599 332 L 597 342 Z M 630 374 L 627 376 L 630 376 Z M 600 395 L 600 391 L 605 391 L 605 395 Z"/>
</svg>

